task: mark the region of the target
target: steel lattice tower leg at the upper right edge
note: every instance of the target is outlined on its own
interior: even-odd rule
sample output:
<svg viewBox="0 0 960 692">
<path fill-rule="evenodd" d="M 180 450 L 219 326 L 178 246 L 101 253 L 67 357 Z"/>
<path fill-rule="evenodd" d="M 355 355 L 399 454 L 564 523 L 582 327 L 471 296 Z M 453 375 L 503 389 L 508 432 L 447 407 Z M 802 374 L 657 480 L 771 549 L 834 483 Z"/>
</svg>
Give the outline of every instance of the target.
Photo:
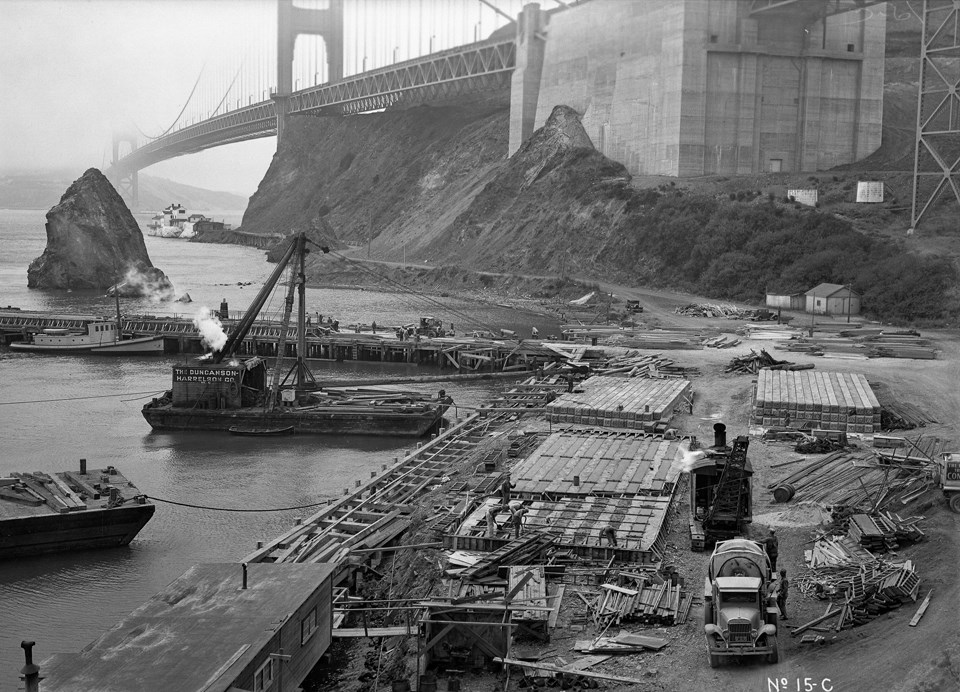
<svg viewBox="0 0 960 692">
<path fill-rule="evenodd" d="M 946 190 L 960 210 L 960 0 L 924 0 L 913 163 L 916 229 Z M 954 211 L 954 219 L 960 214 Z M 960 228 L 960 226 L 958 226 Z"/>
</svg>

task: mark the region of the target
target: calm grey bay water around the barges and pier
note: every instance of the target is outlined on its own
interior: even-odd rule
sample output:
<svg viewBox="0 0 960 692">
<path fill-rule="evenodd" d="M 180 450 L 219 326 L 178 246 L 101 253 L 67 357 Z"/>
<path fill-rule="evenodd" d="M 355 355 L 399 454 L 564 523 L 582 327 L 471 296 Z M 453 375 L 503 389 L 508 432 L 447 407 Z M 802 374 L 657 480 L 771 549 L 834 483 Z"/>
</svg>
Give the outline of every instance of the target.
<svg viewBox="0 0 960 692">
<path fill-rule="evenodd" d="M 112 298 L 96 291 L 27 288 L 27 266 L 46 245 L 42 210 L 0 209 L 0 307 L 64 314 L 115 314 Z M 212 214 L 239 223 L 239 213 Z M 149 215 L 138 215 L 145 227 Z M 192 303 L 125 299 L 125 314 L 186 315 L 246 308 L 274 265 L 264 253 L 233 245 L 189 243 L 145 236 L 153 264 Z M 380 325 L 415 322 L 421 315 L 454 322 L 458 332 L 491 326 L 528 336 L 536 326 L 558 328 L 549 316 L 468 300 L 403 293 L 308 289 L 311 313 Z M 271 300 L 276 314 L 282 295 Z M 228 434 L 155 433 L 140 414 L 151 396 L 170 387 L 171 365 L 185 356 L 110 357 L 43 355 L 0 347 L 0 476 L 14 471 L 78 470 L 116 466 L 144 493 L 200 505 L 158 502 L 153 519 L 125 548 L 60 553 L 0 561 L 0 692 L 15 690 L 23 666 L 21 640 L 34 640 L 34 660 L 77 652 L 191 565 L 234 562 L 306 518 L 315 509 L 234 512 L 322 503 L 355 480 L 370 477 L 411 449 L 409 438 L 291 436 L 238 438 Z M 319 380 L 439 374 L 432 367 L 393 363 L 311 362 Z M 416 385 L 440 387 L 465 416 L 506 385 L 491 382 Z M 449 415 L 449 414 L 448 414 Z M 217 508 L 217 509 L 214 509 Z M 43 672 L 41 671 L 41 675 Z"/>
</svg>

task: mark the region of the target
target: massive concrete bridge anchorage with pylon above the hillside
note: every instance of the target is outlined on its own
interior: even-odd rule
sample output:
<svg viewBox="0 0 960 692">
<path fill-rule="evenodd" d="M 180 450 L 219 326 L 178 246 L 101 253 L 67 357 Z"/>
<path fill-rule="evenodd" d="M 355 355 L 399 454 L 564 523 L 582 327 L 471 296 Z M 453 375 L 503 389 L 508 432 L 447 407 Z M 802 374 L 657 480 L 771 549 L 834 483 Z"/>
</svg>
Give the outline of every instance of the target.
<svg viewBox="0 0 960 692">
<path fill-rule="evenodd" d="M 597 149 L 633 174 L 807 171 L 863 158 L 880 145 L 884 8 L 870 0 L 594 0 L 556 13 L 528 5 L 518 23 L 510 153 L 565 104 L 582 114 Z"/>
</svg>

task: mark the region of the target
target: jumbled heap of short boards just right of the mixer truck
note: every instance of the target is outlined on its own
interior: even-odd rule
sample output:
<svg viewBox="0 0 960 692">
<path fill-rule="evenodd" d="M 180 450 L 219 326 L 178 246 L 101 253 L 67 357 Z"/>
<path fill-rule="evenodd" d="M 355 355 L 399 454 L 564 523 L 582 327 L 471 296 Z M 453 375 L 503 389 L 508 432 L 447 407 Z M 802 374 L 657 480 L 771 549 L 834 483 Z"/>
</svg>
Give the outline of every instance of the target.
<svg viewBox="0 0 960 692">
<path fill-rule="evenodd" d="M 909 560 L 902 564 L 881 561 L 859 567 L 815 570 L 798 580 L 798 588 L 809 595 L 833 596 L 841 601 L 838 608 L 827 607 L 827 613 L 791 632 L 796 636 L 810 627 L 839 615 L 834 631 L 856 627 L 907 601 L 916 601 L 920 577 Z"/>
</svg>

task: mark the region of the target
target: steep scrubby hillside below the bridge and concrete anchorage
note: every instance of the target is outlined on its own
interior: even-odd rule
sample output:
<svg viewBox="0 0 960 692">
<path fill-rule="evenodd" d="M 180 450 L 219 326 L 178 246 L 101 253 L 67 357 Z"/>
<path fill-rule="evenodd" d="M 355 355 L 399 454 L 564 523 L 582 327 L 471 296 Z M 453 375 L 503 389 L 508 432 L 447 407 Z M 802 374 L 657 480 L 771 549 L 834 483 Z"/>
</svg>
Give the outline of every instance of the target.
<svg viewBox="0 0 960 692">
<path fill-rule="evenodd" d="M 905 2 L 891 3 L 888 17 L 883 144 L 856 166 L 631 180 L 566 107 L 509 159 L 504 108 L 299 117 L 242 230 L 313 230 L 334 247 L 405 264 L 615 279 L 748 301 L 773 284 L 850 282 L 878 317 L 949 321 L 960 314 L 960 241 L 939 229 L 955 219 L 906 235 L 920 21 Z M 857 204 L 860 180 L 884 182 L 884 202 Z M 787 199 L 796 187 L 816 188 L 818 207 Z M 341 269 L 313 259 L 316 280 Z"/>
</svg>

